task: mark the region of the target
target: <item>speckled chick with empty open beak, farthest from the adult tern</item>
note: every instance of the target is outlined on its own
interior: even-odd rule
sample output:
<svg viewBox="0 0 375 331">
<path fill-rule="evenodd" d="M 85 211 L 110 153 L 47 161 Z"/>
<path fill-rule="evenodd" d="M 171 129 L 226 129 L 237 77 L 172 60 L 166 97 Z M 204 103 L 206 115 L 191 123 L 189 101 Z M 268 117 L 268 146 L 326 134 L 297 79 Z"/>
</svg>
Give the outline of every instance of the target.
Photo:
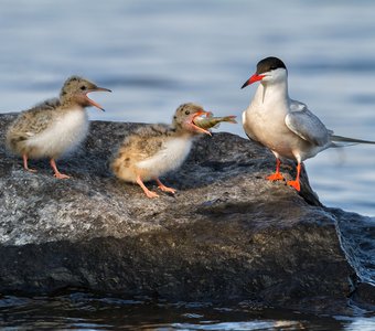
<svg viewBox="0 0 375 331">
<path fill-rule="evenodd" d="M 7 145 L 15 154 L 22 156 L 25 170 L 28 159 L 50 158 L 57 179 L 67 179 L 61 173 L 55 160 L 72 152 L 86 138 L 88 117 L 86 107 L 103 107 L 89 99 L 87 94 L 110 89 L 96 86 L 78 77 L 69 77 L 63 85 L 60 97 L 47 99 L 22 111 L 7 131 Z"/>
</svg>

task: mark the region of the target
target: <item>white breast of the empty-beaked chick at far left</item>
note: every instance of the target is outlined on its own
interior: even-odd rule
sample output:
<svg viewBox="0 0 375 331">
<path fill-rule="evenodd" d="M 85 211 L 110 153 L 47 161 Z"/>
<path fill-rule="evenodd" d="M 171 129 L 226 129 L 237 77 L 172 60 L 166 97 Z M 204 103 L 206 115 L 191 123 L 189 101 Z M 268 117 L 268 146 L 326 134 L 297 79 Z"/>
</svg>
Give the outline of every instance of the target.
<svg viewBox="0 0 375 331">
<path fill-rule="evenodd" d="M 30 137 L 28 145 L 35 147 L 41 157 L 58 157 L 78 147 L 87 132 L 86 110 L 74 108 L 62 113 L 46 130 Z"/>
</svg>

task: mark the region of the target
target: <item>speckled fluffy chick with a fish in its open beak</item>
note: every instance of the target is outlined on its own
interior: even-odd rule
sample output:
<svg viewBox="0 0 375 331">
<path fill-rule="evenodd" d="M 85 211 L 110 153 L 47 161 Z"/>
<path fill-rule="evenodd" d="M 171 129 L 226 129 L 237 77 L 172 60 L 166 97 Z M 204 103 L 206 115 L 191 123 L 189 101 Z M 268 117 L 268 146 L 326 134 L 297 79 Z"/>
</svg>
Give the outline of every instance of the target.
<svg viewBox="0 0 375 331">
<path fill-rule="evenodd" d="M 200 134 L 210 131 L 194 125 L 197 116 L 207 114 L 199 105 L 181 105 L 173 117 L 171 126 L 148 125 L 126 137 L 117 156 L 111 162 L 116 177 L 127 182 L 138 183 L 148 197 L 159 196 L 146 188 L 143 181 L 156 180 L 159 189 L 174 193 L 165 186 L 159 177 L 178 169 L 186 159 L 192 142 Z"/>
</svg>

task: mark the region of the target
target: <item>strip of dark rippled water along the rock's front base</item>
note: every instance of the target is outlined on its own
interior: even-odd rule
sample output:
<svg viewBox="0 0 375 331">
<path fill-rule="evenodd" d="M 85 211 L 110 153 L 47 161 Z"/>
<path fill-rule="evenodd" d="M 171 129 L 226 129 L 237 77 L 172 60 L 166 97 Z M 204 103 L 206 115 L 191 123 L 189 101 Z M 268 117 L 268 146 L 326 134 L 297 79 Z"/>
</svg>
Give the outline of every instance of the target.
<svg viewBox="0 0 375 331">
<path fill-rule="evenodd" d="M 126 300 L 84 292 L 54 298 L 4 297 L 0 300 L 0 327 L 7 330 L 371 330 L 371 325 L 375 327 L 375 317 L 365 313 L 319 317 L 259 309 L 246 302 L 235 307 L 172 305 L 156 303 L 148 298 Z"/>
</svg>

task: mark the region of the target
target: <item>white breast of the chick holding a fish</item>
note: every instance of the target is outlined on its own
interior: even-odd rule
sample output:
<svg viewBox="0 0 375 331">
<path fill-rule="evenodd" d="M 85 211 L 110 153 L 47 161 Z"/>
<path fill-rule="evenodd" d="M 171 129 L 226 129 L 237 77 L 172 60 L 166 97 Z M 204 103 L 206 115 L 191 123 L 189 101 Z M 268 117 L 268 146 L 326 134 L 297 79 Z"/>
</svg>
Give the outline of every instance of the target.
<svg viewBox="0 0 375 331">
<path fill-rule="evenodd" d="M 190 138 L 173 138 L 163 145 L 154 156 L 140 161 L 137 167 L 149 171 L 149 179 L 178 169 L 186 159 L 192 147 Z M 147 180 L 147 179 L 146 179 Z"/>
</svg>

